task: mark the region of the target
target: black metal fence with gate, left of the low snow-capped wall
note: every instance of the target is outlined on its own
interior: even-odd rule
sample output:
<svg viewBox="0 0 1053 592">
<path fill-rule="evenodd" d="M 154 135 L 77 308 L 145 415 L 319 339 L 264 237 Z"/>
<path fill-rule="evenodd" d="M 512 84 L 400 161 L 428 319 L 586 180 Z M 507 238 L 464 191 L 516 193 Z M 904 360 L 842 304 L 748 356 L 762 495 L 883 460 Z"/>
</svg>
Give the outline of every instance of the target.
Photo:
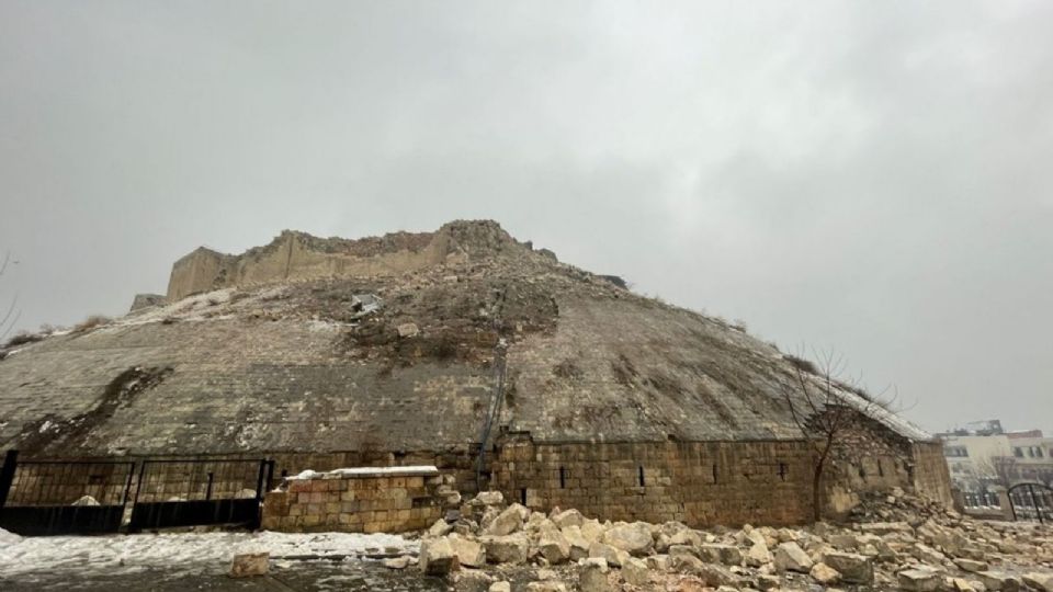
<svg viewBox="0 0 1053 592">
<path fill-rule="evenodd" d="M 0 469 L 0 527 L 26 536 L 115 533 L 125 524 L 131 532 L 256 528 L 273 473 L 265 459 L 20 460 L 9 451 Z"/>
</svg>

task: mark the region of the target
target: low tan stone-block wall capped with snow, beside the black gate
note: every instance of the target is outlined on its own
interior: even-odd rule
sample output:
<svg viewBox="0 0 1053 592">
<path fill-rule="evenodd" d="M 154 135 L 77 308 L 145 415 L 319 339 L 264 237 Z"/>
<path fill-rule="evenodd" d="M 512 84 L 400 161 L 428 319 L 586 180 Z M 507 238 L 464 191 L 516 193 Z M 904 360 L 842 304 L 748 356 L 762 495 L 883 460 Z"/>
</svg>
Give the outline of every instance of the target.
<svg viewBox="0 0 1053 592">
<path fill-rule="evenodd" d="M 262 527 L 281 532 L 401 533 L 427 528 L 460 496 L 434 467 L 343 469 L 286 479 L 268 492 Z M 451 499 L 453 496 L 453 499 Z"/>
</svg>

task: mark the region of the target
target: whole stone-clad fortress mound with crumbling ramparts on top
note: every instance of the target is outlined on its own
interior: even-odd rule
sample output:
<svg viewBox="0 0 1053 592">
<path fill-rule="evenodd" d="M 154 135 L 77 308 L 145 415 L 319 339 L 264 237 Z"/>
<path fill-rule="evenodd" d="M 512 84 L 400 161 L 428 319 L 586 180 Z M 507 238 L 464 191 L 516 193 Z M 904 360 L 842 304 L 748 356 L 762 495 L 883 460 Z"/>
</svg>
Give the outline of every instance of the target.
<svg viewBox="0 0 1053 592">
<path fill-rule="evenodd" d="M 332 276 L 352 280 L 313 280 Z M 384 308 L 342 316 L 362 292 Z M 471 493 L 501 355 L 483 486 L 507 499 L 691 525 L 809 514 L 809 444 L 785 408 L 781 352 L 496 225 L 200 249 L 177 262 L 168 296 L 0 360 L 0 445 L 26 457 L 268 457 L 275 476 L 434 465 Z M 401 335 L 403 323 L 418 332 Z M 837 458 L 831 505 L 893 487 L 950 499 L 927 434 L 862 428 Z"/>
</svg>

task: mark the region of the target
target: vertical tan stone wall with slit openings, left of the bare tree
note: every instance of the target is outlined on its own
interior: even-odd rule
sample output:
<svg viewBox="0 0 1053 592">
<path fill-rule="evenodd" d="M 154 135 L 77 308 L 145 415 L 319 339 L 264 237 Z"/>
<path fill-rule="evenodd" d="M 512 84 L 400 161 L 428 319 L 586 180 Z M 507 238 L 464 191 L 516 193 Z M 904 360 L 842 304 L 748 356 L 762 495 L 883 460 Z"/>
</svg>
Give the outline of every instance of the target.
<svg viewBox="0 0 1053 592">
<path fill-rule="evenodd" d="M 800 524 L 811 515 L 805 442 L 502 446 L 492 488 L 535 510 L 690 526 Z"/>
</svg>

